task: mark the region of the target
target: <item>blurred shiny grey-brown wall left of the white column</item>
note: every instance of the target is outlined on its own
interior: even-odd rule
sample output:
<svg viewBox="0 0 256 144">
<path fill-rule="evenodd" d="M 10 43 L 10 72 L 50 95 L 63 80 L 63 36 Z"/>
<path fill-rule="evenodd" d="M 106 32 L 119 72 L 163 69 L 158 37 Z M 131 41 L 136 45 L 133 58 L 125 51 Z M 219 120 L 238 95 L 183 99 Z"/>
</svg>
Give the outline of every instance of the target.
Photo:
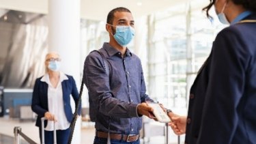
<svg viewBox="0 0 256 144">
<path fill-rule="evenodd" d="M 0 85 L 32 88 L 44 74 L 48 51 L 46 16 L 10 11 L 0 18 Z"/>
</svg>

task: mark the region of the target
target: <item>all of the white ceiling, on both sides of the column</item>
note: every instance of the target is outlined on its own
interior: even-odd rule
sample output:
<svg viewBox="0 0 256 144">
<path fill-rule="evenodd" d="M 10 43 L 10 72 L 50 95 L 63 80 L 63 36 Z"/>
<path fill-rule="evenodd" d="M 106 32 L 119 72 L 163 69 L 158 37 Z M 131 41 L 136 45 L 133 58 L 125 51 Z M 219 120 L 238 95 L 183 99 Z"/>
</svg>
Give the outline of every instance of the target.
<svg viewBox="0 0 256 144">
<path fill-rule="evenodd" d="M 164 10 L 188 0 L 81 0 L 81 18 L 105 20 L 110 10 L 126 7 L 134 18 Z M 24 12 L 48 13 L 47 0 L 0 0 L 0 8 Z"/>
</svg>

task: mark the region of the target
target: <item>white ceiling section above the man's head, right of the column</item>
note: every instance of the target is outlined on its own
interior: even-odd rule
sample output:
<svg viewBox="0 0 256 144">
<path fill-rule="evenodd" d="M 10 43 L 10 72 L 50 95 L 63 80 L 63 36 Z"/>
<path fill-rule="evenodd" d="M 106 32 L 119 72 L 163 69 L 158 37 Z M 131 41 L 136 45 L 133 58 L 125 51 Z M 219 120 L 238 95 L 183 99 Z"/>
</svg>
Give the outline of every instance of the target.
<svg viewBox="0 0 256 144">
<path fill-rule="evenodd" d="M 136 18 L 165 10 L 182 1 L 186 0 L 81 0 L 81 16 L 105 19 L 110 10 L 122 6 L 128 8 Z"/>
</svg>

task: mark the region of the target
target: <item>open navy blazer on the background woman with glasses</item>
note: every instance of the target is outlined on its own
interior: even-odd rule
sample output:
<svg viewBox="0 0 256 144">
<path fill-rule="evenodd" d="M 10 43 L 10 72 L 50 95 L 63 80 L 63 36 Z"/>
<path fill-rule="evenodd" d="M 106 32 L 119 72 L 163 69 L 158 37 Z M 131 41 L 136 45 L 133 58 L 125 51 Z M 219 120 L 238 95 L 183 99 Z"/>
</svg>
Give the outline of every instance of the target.
<svg viewBox="0 0 256 144">
<path fill-rule="evenodd" d="M 62 92 L 63 92 L 63 109 L 65 111 L 66 117 L 69 122 L 72 121 L 73 113 L 70 105 L 70 94 L 74 99 L 74 102 L 77 104 L 79 99 L 79 92 L 76 88 L 76 83 L 72 76 L 68 76 L 68 80 L 61 82 Z M 41 118 L 44 117 L 44 113 L 48 111 L 48 84 L 41 81 L 41 78 L 35 80 L 35 86 L 33 88 L 33 97 L 32 97 L 32 110 L 38 115 L 36 119 L 35 126 L 41 126 Z M 81 104 L 79 108 L 79 114 L 81 113 Z M 47 126 L 47 121 L 44 121 L 44 127 Z"/>
</svg>

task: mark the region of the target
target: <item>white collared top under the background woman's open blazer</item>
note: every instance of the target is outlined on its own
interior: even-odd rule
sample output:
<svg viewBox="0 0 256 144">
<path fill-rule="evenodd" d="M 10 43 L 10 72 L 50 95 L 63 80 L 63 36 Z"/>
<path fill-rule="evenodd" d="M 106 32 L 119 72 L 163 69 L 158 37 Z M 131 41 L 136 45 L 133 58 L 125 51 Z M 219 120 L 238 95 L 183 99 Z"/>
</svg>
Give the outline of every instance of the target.
<svg viewBox="0 0 256 144">
<path fill-rule="evenodd" d="M 50 82 L 48 73 L 44 74 L 41 78 L 41 81 L 44 81 L 48 84 L 48 111 L 55 115 L 57 122 L 55 123 L 56 130 L 66 130 L 70 126 L 63 106 L 63 93 L 61 82 L 68 80 L 68 76 L 63 72 L 59 72 L 59 83 L 57 87 L 53 87 Z M 45 130 L 53 131 L 53 121 L 48 121 Z"/>
</svg>

